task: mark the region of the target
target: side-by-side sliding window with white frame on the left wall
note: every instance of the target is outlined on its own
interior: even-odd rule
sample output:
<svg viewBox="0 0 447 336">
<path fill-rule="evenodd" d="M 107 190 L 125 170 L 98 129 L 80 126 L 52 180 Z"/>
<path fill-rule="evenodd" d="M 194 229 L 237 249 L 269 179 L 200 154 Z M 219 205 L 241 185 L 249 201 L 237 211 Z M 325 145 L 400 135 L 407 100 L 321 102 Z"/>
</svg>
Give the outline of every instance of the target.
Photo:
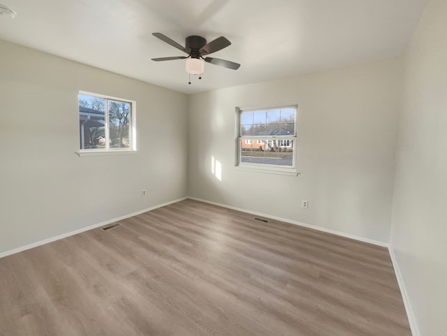
<svg viewBox="0 0 447 336">
<path fill-rule="evenodd" d="M 133 151 L 135 101 L 80 92 L 81 152 Z"/>
</svg>

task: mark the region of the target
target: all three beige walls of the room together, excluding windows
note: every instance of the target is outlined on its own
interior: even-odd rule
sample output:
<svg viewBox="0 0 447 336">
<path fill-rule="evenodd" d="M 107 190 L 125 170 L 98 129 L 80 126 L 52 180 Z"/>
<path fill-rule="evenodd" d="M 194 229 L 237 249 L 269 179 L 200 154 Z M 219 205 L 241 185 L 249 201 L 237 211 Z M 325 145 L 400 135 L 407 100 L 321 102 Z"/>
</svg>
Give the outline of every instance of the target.
<svg viewBox="0 0 447 336">
<path fill-rule="evenodd" d="M 189 195 L 390 241 L 420 335 L 444 336 L 446 17 L 447 1 L 430 1 L 403 63 L 189 97 L 0 41 L 0 254 Z M 74 154 L 78 90 L 137 101 L 138 153 Z M 235 106 L 288 103 L 301 174 L 235 168 Z"/>
</svg>

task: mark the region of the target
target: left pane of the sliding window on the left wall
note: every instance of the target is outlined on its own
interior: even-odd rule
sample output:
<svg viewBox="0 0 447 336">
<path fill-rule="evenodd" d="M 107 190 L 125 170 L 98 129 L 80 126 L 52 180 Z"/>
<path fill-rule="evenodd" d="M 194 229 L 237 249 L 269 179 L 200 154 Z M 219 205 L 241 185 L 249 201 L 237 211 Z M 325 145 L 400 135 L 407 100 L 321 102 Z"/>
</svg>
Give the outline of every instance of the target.
<svg viewBox="0 0 447 336">
<path fill-rule="evenodd" d="M 105 99 L 79 95 L 80 149 L 105 147 Z"/>
</svg>

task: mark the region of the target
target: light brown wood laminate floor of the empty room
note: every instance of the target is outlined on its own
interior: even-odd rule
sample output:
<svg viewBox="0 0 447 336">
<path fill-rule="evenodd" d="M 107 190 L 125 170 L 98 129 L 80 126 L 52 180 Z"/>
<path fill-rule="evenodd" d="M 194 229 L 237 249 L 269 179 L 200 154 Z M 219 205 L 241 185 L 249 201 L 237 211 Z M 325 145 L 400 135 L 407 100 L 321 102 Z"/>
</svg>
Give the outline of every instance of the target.
<svg viewBox="0 0 447 336">
<path fill-rule="evenodd" d="M 388 250 L 194 200 L 0 259 L 0 335 L 410 336 Z"/>
</svg>

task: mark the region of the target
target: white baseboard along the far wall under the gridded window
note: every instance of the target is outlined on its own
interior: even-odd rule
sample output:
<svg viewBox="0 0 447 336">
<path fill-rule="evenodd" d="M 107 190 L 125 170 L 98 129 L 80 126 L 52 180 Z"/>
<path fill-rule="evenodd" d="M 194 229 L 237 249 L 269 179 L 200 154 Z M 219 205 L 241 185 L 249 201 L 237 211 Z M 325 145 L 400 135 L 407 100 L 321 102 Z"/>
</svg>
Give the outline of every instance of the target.
<svg viewBox="0 0 447 336">
<path fill-rule="evenodd" d="M 212 204 L 212 205 L 218 205 L 219 207 L 226 207 L 226 208 L 231 209 L 231 210 L 237 210 L 237 211 L 240 211 L 240 212 L 246 212 L 247 214 L 255 214 L 256 216 L 267 217 L 267 218 L 275 219 L 277 221 L 285 221 L 286 223 L 289 223 L 289 224 L 294 224 L 294 225 L 302 226 L 302 227 L 305 227 L 305 228 L 312 228 L 313 230 L 322 231 L 322 232 L 325 232 L 325 233 L 332 233 L 332 235 L 339 235 L 339 236 L 342 236 L 342 237 L 345 237 L 345 238 L 351 238 L 353 240 L 359 240 L 360 242 L 367 242 L 369 244 L 374 244 L 374 245 L 379 245 L 381 247 L 388 247 L 389 248 L 389 244 L 388 243 L 381 242 L 379 240 L 372 240 L 372 239 L 369 239 L 369 238 L 359 237 L 357 235 L 350 235 L 349 233 L 344 233 L 344 232 L 341 232 L 341 231 L 330 230 L 329 228 L 322 228 L 321 226 L 305 224 L 305 223 L 302 223 L 300 221 L 293 221 L 292 219 L 286 219 L 286 218 L 281 218 L 281 217 L 277 217 L 277 216 L 272 216 L 271 214 L 263 214 L 261 212 L 256 212 L 256 211 L 251 211 L 251 210 L 247 210 L 247 209 L 242 209 L 240 207 L 233 207 L 231 205 L 226 205 L 226 204 L 222 204 L 222 203 L 212 202 L 211 200 L 203 200 L 201 198 L 196 198 L 196 197 L 189 197 L 189 199 L 191 199 L 191 200 L 198 200 L 199 202 L 209 203 L 209 204 Z"/>
</svg>

